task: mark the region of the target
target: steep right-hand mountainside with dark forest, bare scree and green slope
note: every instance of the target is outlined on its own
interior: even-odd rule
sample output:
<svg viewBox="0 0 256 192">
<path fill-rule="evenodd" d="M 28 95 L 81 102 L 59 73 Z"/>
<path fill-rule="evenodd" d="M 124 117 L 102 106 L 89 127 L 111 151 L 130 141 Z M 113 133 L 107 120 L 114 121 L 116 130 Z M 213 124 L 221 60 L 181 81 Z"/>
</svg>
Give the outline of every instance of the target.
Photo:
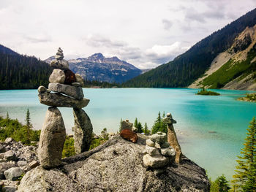
<svg viewBox="0 0 256 192">
<path fill-rule="evenodd" d="M 253 9 L 197 42 L 173 61 L 140 74 L 124 82 L 123 86 L 154 88 L 206 86 L 255 90 L 256 86 L 253 85 L 256 77 L 255 24 L 256 9 Z"/>
</svg>

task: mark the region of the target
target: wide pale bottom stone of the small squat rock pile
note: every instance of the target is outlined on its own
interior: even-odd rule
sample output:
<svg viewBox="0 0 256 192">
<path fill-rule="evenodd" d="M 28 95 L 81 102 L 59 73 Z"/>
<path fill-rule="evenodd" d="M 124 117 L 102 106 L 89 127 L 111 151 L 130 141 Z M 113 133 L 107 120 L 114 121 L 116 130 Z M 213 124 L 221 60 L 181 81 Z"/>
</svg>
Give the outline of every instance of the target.
<svg viewBox="0 0 256 192">
<path fill-rule="evenodd" d="M 167 164 L 169 164 L 169 161 L 170 161 L 169 158 L 166 158 L 162 155 L 151 156 L 149 154 L 146 154 L 143 156 L 144 165 L 150 166 L 153 168 L 166 166 Z"/>
</svg>

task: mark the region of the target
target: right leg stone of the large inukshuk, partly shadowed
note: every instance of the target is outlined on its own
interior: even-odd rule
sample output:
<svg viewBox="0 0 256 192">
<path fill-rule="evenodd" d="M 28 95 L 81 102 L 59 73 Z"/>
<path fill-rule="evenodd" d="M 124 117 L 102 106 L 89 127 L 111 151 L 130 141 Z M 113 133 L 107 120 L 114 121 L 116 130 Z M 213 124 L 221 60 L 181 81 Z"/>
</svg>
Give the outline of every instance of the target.
<svg viewBox="0 0 256 192">
<path fill-rule="evenodd" d="M 89 150 L 91 144 L 92 125 L 89 116 L 82 109 L 73 109 L 75 126 L 74 131 L 74 147 L 75 153 L 83 153 Z"/>
</svg>

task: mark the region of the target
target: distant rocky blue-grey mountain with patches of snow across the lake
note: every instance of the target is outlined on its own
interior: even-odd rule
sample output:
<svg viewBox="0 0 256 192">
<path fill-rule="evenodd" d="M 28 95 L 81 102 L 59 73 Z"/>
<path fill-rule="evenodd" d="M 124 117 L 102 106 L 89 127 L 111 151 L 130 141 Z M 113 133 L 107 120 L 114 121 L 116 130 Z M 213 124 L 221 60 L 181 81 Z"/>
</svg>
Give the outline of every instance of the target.
<svg viewBox="0 0 256 192">
<path fill-rule="evenodd" d="M 54 57 L 45 60 L 48 64 Z M 86 80 L 97 80 L 99 82 L 125 82 L 142 74 L 143 71 L 121 61 L 117 57 L 105 58 L 102 53 L 95 53 L 88 58 L 77 58 L 69 60 L 69 68 L 72 72 L 80 74 Z"/>
</svg>

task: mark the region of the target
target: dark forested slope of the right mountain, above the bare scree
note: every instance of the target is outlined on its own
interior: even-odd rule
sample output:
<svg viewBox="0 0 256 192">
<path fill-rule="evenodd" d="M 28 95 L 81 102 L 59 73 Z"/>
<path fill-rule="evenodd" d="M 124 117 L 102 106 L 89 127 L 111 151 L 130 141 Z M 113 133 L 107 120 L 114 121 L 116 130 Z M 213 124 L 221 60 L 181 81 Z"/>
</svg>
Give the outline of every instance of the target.
<svg viewBox="0 0 256 192">
<path fill-rule="evenodd" d="M 186 53 L 123 83 L 124 87 L 187 87 L 202 76 L 211 61 L 227 50 L 241 31 L 256 24 L 256 9 L 197 42 Z"/>
</svg>

